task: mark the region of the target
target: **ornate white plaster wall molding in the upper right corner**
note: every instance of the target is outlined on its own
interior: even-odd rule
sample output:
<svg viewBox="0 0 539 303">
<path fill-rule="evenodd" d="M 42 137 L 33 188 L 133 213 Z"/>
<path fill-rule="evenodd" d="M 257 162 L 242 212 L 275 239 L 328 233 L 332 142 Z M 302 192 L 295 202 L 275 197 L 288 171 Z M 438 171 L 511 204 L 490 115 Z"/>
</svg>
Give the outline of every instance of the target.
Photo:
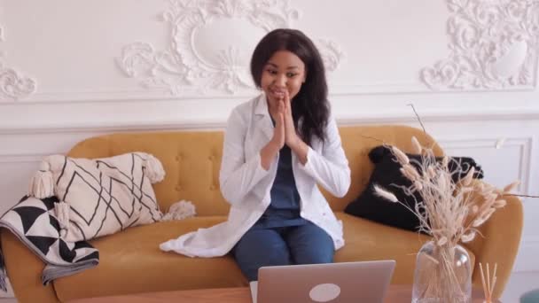
<svg viewBox="0 0 539 303">
<path fill-rule="evenodd" d="M 539 1 L 446 0 L 449 58 L 423 68 L 430 89 L 536 85 Z"/>
</svg>

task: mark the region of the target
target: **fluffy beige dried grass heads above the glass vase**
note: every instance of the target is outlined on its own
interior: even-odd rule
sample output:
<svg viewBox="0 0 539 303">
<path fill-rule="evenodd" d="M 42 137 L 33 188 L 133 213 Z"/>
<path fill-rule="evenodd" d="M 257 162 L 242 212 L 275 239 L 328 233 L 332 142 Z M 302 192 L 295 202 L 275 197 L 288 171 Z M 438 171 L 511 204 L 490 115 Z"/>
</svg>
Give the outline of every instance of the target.
<svg viewBox="0 0 539 303">
<path fill-rule="evenodd" d="M 411 144 L 414 150 L 421 151 L 421 161 L 414 165 L 406 153 L 396 146 L 391 146 L 394 159 L 401 164 L 401 173 L 410 180 L 409 188 L 394 184 L 408 195 L 414 193 L 423 198 L 418 201 L 416 209 L 399 201 L 390 189 L 384 189 L 375 185 L 374 192 L 381 198 L 400 203 L 408 208 L 419 219 L 420 230 L 434 237 L 434 243 L 442 246 L 454 247 L 459 242 L 470 242 L 479 233 L 478 228 L 496 212 L 496 209 L 504 207 L 507 202 L 504 195 L 510 194 L 519 182 L 513 182 L 503 190 L 486 183 L 473 182 L 475 168 L 465 170 L 457 163 L 456 169 L 449 171 L 449 161 L 454 161 L 445 156 L 441 161 L 434 157 L 434 151 L 419 144 L 413 136 Z M 454 183 L 452 175 L 465 175 L 459 183 Z"/>
</svg>

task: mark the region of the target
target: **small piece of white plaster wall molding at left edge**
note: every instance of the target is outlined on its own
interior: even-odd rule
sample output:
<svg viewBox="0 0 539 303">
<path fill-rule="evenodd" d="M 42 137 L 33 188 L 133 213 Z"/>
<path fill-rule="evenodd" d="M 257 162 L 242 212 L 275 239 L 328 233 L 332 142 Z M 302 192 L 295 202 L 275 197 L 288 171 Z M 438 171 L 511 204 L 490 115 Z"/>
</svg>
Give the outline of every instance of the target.
<svg viewBox="0 0 539 303">
<path fill-rule="evenodd" d="M 0 27 L 0 43 L 4 39 L 4 27 Z M 4 57 L 0 51 L 0 102 L 18 101 L 35 93 L 35 80 L 5 66 Z"/>
</svg>

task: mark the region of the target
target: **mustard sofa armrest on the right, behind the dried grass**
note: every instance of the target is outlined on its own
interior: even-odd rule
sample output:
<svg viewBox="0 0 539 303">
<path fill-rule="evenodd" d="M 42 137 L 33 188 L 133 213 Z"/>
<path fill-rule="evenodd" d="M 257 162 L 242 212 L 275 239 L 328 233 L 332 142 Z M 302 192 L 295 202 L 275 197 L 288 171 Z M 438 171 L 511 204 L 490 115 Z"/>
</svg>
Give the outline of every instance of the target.
<svg viewBox="0 0 539 303">
<path fill-rule="evenodd" d="M 492 268 L 497 263 L 496 287 L 493 298 L 499 298 L 512 273 L 514 261 L 519 252 L 523 227 L 523 211 L 520 199 L 504 196 L 507 205 L 496 212 L 480 226 L 480 233 L 472 243 L 466 244 L 475 254 L 472 283 L 482 288 L 479 263 Z M 483 268 L 484 269 L 484 268 Z M 485 273 L 486 274 L 486 273 Z"/>
</svg>

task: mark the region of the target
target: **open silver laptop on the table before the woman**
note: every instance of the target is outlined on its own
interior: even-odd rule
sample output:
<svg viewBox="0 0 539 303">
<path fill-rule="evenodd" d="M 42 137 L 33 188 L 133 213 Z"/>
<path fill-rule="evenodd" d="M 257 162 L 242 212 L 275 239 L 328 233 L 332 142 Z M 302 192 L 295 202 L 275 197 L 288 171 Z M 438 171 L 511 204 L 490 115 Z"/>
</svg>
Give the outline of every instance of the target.
<svg viewBox="0 0 539 303">
<path fill-rule="evenodd" d="M 250 283 L 254 303 L 383 302 L 394 260 L 272 266 Z"/>
</svg>

